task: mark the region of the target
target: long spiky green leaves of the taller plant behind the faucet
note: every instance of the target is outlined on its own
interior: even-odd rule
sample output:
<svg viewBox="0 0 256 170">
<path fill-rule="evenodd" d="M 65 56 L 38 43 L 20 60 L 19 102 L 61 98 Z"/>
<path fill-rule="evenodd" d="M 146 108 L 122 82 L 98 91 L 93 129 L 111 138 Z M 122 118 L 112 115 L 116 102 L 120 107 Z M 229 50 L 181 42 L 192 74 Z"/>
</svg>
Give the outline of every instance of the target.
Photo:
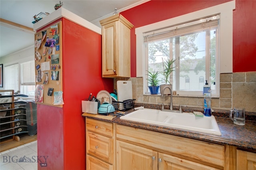
<svg viewBox="0 0 256 170">
<path fill-rule="evenodd" d="M 163 67 L 164 67 L 164 71 L 162 73 L 162 75 L 164 76 L 164 82 L 165 84 L 167 85 L 168 83 L 170 84 L 170 74 L 172 73 L 172 71 L 174 71 L 174 68 L 173 67 L 173 63 L 174 61 L 176 61 L 176 59 L 163 59 L 162 58 L 162 61 L 163 61 Z"/>
</svg>

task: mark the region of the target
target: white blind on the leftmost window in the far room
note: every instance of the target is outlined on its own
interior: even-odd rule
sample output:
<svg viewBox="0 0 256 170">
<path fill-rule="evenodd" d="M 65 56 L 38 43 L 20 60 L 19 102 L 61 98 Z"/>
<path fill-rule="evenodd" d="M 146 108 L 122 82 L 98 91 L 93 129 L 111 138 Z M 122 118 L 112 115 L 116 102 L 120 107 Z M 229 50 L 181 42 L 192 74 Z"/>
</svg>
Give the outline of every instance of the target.
<svg viewBox="0 0 256 170">
<path fill-rule="evenodd" d="M 19 90 L 18 63 L 4 67 L 4 75 L 5 75 L 4 89 L 18 91 Z"/>
</svg>

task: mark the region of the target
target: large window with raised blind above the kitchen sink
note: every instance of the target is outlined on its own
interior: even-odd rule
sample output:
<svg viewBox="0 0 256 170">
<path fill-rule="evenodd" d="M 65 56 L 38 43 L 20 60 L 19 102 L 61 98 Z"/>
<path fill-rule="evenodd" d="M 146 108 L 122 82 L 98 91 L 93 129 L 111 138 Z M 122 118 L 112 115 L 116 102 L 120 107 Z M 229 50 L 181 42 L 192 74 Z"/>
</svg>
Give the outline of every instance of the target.
<svg viewBox="0 0 256 170">
<path fill-rule="evenodd" d="M 174 58 L 172 89 L 179 95 L 202 95 L 199 77 L 213 85 L 218 74 L 218 19 L 215 15 L 145 33 L 146 70 L 162 72 L 163 58 Z"/>
</svg>

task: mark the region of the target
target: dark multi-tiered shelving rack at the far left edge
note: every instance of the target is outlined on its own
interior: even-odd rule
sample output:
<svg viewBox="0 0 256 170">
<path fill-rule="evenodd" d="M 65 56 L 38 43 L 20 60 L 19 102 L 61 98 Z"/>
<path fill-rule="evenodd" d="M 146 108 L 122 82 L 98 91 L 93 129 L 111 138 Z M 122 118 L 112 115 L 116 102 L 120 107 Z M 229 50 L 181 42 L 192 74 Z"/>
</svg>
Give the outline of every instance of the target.
<svg viewBox="0 0 256 170">
<path fill-rule="evenodd" d="M 11 95 L 11 97 L 10 95 L 0 96 L 0 98 L 11 98 L 11 101 L 1 103 L 0 143 L 2 144 L 12 140 L 20 141 L 20 137 L 17 135 L 28 132 L 26 128 L 26 108 L 15 101 L 14 90 L 0 90 L 0 92 L 7 92 Z"/>
</svg>

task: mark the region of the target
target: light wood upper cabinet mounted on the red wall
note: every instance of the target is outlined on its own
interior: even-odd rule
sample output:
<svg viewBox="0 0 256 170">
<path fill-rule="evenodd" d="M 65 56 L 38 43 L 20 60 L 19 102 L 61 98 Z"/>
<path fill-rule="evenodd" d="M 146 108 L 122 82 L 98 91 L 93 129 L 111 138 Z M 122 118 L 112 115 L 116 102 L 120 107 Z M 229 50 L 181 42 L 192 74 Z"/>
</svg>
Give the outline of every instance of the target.
<svg viewBox="0 0 256 170">
<path fill-rule="evenodd" d="M 102 77 L 131 77 L 130 29 L 121 14 L 100 21 L 102 26 Z"/>
</svg>

